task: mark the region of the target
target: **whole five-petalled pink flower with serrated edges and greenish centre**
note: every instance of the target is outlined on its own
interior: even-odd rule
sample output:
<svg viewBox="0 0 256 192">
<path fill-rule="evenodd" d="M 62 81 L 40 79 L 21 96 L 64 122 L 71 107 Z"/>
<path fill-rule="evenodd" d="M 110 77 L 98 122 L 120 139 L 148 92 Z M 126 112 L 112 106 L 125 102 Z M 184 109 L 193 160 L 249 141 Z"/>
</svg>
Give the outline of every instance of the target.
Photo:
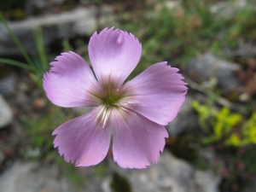
<svg viewBox="0 0 256 192">
<path fill-rule="evenodd" d="M 89 56 L 95 75 L 84 59 L 62 53 L 44 74 L 51 102 L 64 108 L 96 107 L 59 126 L 54 145 L 67 162 L 94 166 L 106 154 L 113 132 L 113 160 L 124 168 L 145 168 L 159 159 L 172 121 L 187 88 L 178 69 L 159 62 L 127 81 L 142 54 L 131 33 L 104 29 L 90 38 Z M 96 76 L 96 77 L 95 77 Z"/>
</svg>

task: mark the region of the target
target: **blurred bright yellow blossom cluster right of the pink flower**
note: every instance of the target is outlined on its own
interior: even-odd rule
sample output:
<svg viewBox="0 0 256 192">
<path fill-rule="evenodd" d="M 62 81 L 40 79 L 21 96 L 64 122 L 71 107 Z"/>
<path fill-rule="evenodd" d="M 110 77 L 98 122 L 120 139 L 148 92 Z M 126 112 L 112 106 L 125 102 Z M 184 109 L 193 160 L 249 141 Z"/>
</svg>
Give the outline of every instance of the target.
<svg viewBox="0 0 256 192">
<path fill-rule="evenodd" d="M 240 113 L 231 113 L 229 108 L 211 108 L 194 101 L 192 107 L 199 114 L 199 123 L 207 136 L 201 143 L 222 142 L 226 146 L 241 147 L 256 144 L 256 113 L 244 119 Z"/>
</svg>

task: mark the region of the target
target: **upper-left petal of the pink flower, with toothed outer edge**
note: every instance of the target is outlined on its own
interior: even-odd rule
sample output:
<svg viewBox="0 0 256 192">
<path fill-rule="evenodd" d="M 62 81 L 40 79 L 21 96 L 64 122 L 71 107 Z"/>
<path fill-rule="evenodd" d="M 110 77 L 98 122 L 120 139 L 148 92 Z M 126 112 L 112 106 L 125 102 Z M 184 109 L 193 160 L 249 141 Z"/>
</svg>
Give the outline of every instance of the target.
<svg viewBox="0 0 256 192">
<path fill-rule="evenodd" d="M 105 93 L 84 59 L 69 52 L 56 60 L 50 63 L 49 73 L 44 74 L 44 90 L 49 100 L 66 108 L 99 106 L 99 97 Z"/>
</svg>

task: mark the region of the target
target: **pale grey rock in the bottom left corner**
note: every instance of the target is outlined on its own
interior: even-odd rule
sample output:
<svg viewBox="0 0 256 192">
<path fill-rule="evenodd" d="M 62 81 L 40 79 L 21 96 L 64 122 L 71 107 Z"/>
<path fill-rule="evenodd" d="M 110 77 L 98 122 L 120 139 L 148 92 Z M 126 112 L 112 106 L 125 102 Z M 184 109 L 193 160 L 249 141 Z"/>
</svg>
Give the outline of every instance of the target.
<svg viewBox="0 0 256 192">
<path fill-rule="evenodd" d="M 79 168 L 78 168 L 79 169 Z M 85 169 L 85 168 L 81 168 Z M 79 192 L 101 191 L 102 177 L 92 177 L 90 168 L 81 180 L 85 189 Z M 61 177 L 55 166 L 40 165 L 38 162 L 15 162 L 0 177 L 1 192 L 72 192 L 78 191 L 65 177 Z"/>
</svg>

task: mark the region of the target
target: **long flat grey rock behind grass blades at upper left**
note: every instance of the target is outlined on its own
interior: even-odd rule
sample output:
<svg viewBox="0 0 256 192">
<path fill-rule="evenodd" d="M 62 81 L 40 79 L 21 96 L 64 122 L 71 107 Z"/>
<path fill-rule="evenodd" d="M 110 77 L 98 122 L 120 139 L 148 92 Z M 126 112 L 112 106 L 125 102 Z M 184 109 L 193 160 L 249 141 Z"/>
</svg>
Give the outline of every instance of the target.
<svg viewBox="0 0 256 192">
<path fill-rule="evenodd" d="M 26 51 L 36 49 L 32 29 L 40 27 L 44 34 L 44 45 L 56 39 L 73 38 L 77 35 L 91 35 L 96 31 L 96 8 L 74 9 L 59 15 L 45 15 L 23 21 L 9 22 L 9 27 Z M 20 55 L 20 50 L 9 36 L 6 28 L 0 23 L 0 55 Z"/>
</svg>

